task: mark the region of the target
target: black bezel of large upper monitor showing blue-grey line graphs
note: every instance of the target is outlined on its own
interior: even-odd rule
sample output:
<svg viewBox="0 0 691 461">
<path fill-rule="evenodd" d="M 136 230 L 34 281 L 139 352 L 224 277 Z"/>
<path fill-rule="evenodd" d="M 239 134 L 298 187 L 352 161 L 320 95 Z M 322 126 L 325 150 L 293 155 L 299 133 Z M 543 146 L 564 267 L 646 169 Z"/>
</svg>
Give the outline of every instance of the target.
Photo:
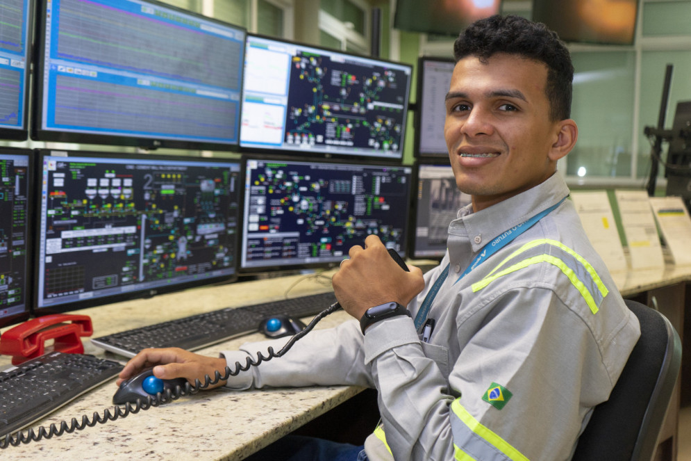
<svg viewBox="0 0 691 461">
<path fill-rule="evenodd" d="M 35 16 L 37 17 L 37 24 L 35 27 L 35 60 L 34 60 L 34 72 L 35 76 L 33 79 L 33 110 L 31 116 L 31 139 L 36 141 L 51 141 L 58 143 L 80 143 L 80 144 L 98 144 L 98 145 L 112 145 L 112 146 L 129 146 L 129 147 L 139 147 L 140 149 L 145 149 L 147 151 L 153 151 L 156 149 L 188 149 L 188 150 L 216 150 L 216 151 L 231 151 L 237 152 L 240 143 L 240 115 L 242 114 L 242 86 L 244 77 L 244 49 L 245 41 L 247 40 L 247 29 L 238 26 L 236 24 L 230 24 L 223 22 L 219 19 L 213 17 L 208 17 L 201 15 L 200 13 L 195 13 L 190 10 L 184 10 L 183 8 L 178 8 L 168 3 L 163 3 L 158 0 L 140 0 L 144 3 L 149 3 L 151 6 L 156 8 L 165 8 L 168 10 L 173 10 L 179 12 L 181 15 L 187 15 L 191 17 L 197 17 L 204 22 L 213 22 L 219 24 L 219 26 L 230 27 L 236 31 L 243 34 L 243 41 L 240 45 L 242 51 L 242 56 L 240 59 L 240 72 L 239 72 L 239 83 L 240 88 L 238 93 L 240 95 L 240 100 L 238 101 L 238 118 L 235 120 L 235 133 L 237 134 L 236 140 L 232 143 L 216 143 L 211 141 L 203 140 L 176 140 L 170 138 L 156 138 L 147 137 L 140 135 L 128 136 L 127 134 L 96 134 L 96 133 L 77 133 L 74 131 L 60 131 L 59 129 L 44 129 L 42 127 L 42 120 L 44 115 L 43 107 L 43 97 L 44 97 L 44 87 L 42 81 L 44 79 L 45 72 L 45 60 L 46 60 L 46 50 L 45 50 L 45 39 L 42 38 L 40 31 L 45 31 L 47 24 L 47 4 L 50 0 L 35 0 L 37 2 L 37 7 L 35 9 Z"/>
</svg>

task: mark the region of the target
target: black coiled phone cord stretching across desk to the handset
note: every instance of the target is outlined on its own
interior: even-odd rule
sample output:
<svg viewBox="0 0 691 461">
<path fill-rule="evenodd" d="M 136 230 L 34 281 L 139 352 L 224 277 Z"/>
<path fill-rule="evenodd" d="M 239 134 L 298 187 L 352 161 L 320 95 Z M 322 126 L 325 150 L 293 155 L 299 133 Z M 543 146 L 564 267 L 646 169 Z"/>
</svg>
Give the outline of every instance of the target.
<svg viewBox="0 0 691 461">
<path fill-rule="evenodd" d="M 303 328 L 303 330 L 294 334 L 285 346 L 281 348 L 277 353 L 274 353 L 274 348 L 270 347 L 267 349 L 267 355 L 261 352 L 257 353 L 257 359 L 253 357 L 247 357 L 247 362 L 244 365 L 240 362 L 235 362 L 235 370 L 231 370 L 230 367 L 226 366 L 224 369 L 224 374 L 221 375 L 219 371 L 216 371 L 214 378 L 212 379 L 209 375 L 204 376 L 204 382 L 202 383 L 199 379 L 194 380 L 194 385 L 190 385 L 189 382 L 185 382 L 184 386 L 177 385 L 174 389 L 165 389 L 165 391 L 158 392 L 155 397 L 147 396 L 146 401 L 137 399 L 135 403 L 126 403 L 125 405 L 115 405 L 113 407 L 114 412 L 111 412 L 111 408 L 106 408 L 103 410 L 103 416 L 99 412 L 94 412 L 92 419 L 89 419 L 88 415 L 83 415 L 81 421 L 76 418 L 67 423 L 67 421 L 60 421 L 60 427 L 56 426 L 56 423 L 51 423 L 48 429 L 44 426 L 40 426 L 37 430 L 29 428 L 28 430 L 19 430 L 13 436 L 8 434 L 0 439 L 0 448 L 8 448 L 9 446 L 19 446 L 20 444 L 28 444 L 30 442 L 38 442 L 41 439 L 50 439 L 52 437 L 59 437 L 65 432 L 71 434 L 75 430 L 83 430 L 87 427 L 96 426 L 97 423 L 104 424 L 108 421 L 115 421 L 118 418 L 125 418 L 129 414 L 138 413 L 140 410 L 149 410 L 151 407 L 158 407 L 158 405 L 163 405 L 164 403 L 169 403 L 177 400 L 183 396 L 188 396 L 192 394 L 197 394 L 197 392 L 202 389 L 206 389 L 209 386 L 215 385 L 219 381 L 225 381 L 231 376 L 236 376 L 241 371 L 248 371 L 252 366 L 259 366 L 262 362 L 268 362 L 274 357 L 281 357 L 292 348 L 293 344 L 296 343 L 303 336 L 308 334 L 313 330 L 315 325 L 322 320 L 322 318 L 332 314 L 333 312 L 340 309 L 338 302 L 334 302 L 331 306 L 319 312 L 312 319 L 312 321 Z"/>
</svg>

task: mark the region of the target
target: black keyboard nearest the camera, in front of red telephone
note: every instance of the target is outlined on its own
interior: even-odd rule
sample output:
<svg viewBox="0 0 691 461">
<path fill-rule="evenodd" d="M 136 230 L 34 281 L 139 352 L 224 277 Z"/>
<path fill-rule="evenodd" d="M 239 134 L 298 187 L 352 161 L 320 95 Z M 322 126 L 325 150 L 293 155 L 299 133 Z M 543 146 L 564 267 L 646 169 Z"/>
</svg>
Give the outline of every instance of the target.
<svg viewBox="0 0 691 461">
<path fill-rule="evenodd" d="M 120 370 L 112 360 L 52 352 L 0 372 L 0 436 L 29 426 Z"/>
</svg>

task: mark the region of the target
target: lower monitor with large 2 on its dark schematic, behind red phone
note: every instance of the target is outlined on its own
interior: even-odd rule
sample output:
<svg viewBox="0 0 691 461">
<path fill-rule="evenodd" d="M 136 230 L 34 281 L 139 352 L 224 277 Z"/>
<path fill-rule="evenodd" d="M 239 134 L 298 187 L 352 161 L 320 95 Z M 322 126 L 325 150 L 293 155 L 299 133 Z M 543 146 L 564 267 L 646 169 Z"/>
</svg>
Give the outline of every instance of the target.
<svg viewBox="0 0 691 461">
<path fill-rule="evenodd" d="M 235 279 L 240 163 L 43 150 L 35 314 Z"/>
</svg>

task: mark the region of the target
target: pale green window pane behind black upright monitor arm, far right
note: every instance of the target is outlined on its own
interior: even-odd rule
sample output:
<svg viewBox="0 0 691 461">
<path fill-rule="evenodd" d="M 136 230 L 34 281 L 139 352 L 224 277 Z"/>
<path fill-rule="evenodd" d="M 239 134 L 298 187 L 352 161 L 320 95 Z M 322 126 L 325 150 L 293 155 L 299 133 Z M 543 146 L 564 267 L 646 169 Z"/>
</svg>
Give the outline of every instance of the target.
<svg viewBox="0 0 691 461">
<path fill-rule="evenodd" d="M 638 177 L 647 177 L 650 172 L 651 143 L 643 134 L 645 127 L 657 127 L 662 102 L 665 69 L 672 64 L 672 85 L 665 115 L 665 129 L 672 129 L 676 104 L 691 100 L 691 51 L 644 51 L 641 63 L 640 81 L 640 132 L 638 136 Z M 668 143 L 663 143 L 662 157 L 667 159 Z M 664 168 L 658 165 L 658 177 L 664 176 Z"/>
</svg>

